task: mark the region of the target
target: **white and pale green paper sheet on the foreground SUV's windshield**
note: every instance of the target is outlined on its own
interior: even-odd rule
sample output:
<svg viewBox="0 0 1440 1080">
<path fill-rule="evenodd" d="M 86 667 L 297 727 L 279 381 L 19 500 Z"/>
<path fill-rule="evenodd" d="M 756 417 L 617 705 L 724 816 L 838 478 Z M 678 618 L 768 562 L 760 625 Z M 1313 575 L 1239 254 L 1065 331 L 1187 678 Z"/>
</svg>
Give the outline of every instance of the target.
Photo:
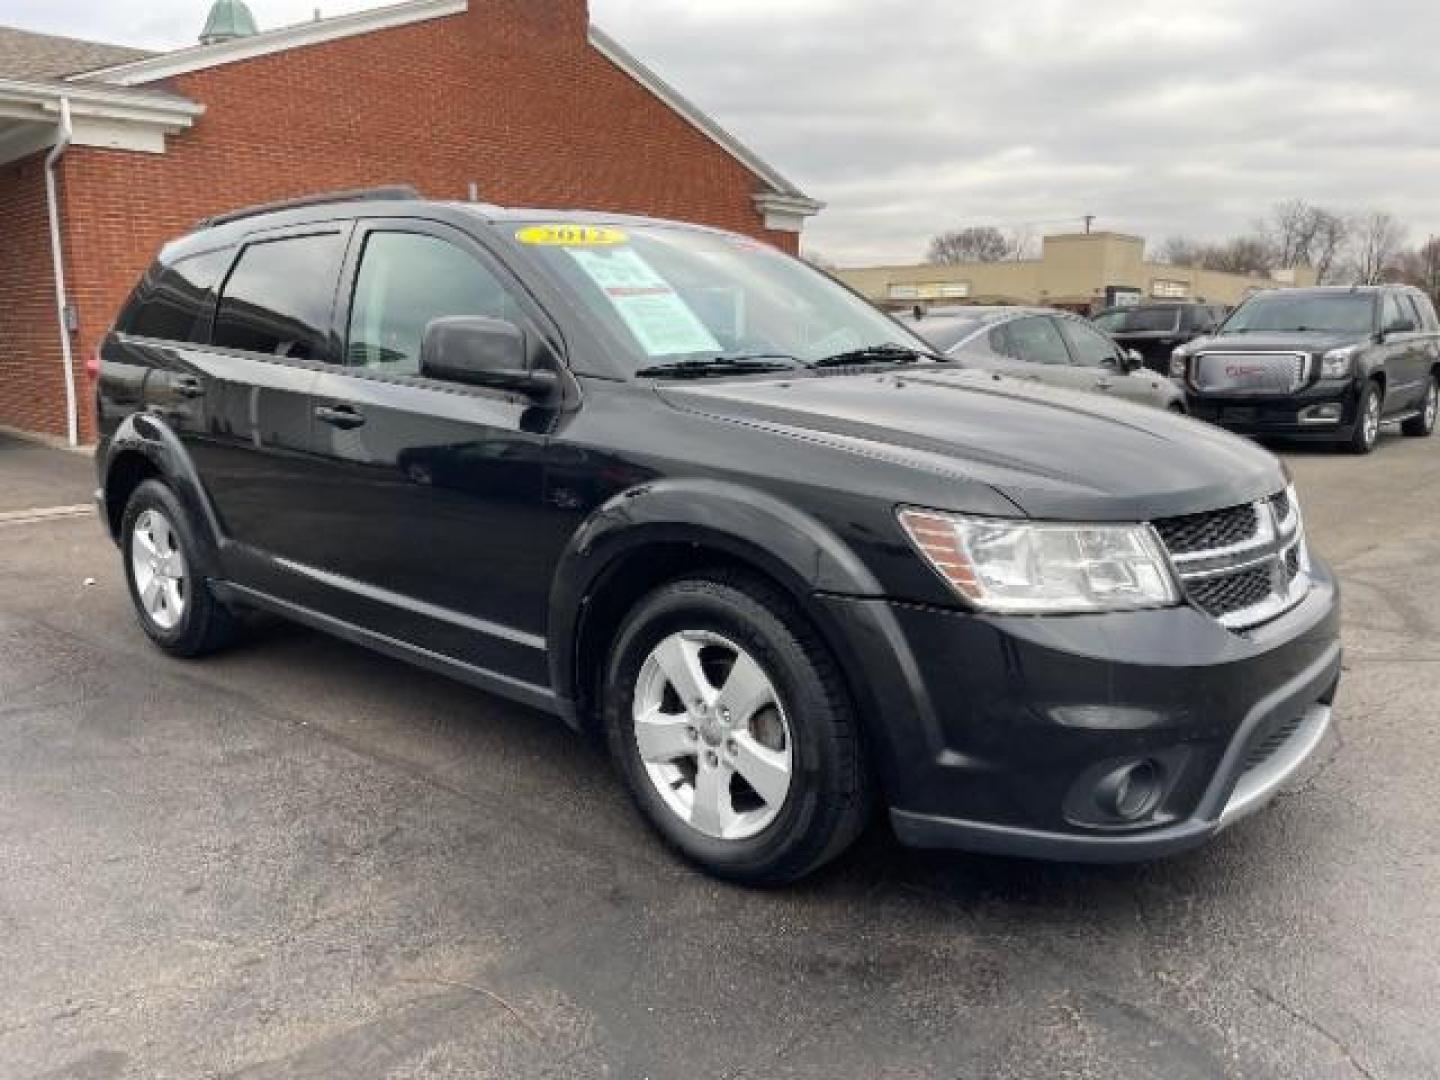
<svg viewBox="0 0 1440 1080">
<path fill-rule="evenodd" d="M 600 287 L 647 356 L 721 351 L 690 305 L 634 248 L 608 252 L 572 248 L 569 253 Z"/>
</svg>

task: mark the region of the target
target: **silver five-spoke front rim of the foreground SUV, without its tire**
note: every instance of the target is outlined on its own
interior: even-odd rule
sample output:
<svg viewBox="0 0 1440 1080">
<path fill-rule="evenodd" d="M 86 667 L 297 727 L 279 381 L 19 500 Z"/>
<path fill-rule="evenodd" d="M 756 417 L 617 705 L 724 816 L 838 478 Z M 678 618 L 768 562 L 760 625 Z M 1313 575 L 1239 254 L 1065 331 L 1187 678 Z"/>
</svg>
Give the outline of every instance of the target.
<svg viewBox="0 0 1440 1080">
<path fill-rule="evenodd" d="M 632 706 L 645 775 L 665 806 L 714 840 L 747 840 L 779 815 L 793 743 L 759 661 L 708 631 L 680 631 L 641 664 Z"/>
</svg>

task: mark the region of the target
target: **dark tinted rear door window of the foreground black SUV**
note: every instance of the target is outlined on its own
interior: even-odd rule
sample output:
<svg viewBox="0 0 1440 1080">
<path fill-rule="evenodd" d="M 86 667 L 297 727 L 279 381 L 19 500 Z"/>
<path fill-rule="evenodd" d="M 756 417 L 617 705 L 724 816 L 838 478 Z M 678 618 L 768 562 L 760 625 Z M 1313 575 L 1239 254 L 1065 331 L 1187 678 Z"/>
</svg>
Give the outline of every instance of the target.
<svg viewBox="0 0 1440 1080">
<path fill-rule="evenodd" d="M 210 340 L 249 353 L 324 360 L 343 251 L 340 233 L 249 245 L 225 282 Z"/>
</svg>

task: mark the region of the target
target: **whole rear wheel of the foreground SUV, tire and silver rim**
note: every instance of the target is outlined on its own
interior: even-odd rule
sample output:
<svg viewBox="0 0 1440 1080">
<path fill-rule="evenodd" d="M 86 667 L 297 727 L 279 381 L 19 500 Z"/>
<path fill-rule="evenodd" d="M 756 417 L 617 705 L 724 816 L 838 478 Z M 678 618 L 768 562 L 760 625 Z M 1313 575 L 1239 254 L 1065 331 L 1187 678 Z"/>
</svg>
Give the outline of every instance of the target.
<svg viewBox="0 0 1440 1080">
<path fill-rule="evenodd" d="M 147 480 L 121 521 L 125 579 L 141 629 L 174 657 L 212 652 L 235 636 L 235 616 L 204 585 L 199 546 L 174 492 Z"/>
</svg>

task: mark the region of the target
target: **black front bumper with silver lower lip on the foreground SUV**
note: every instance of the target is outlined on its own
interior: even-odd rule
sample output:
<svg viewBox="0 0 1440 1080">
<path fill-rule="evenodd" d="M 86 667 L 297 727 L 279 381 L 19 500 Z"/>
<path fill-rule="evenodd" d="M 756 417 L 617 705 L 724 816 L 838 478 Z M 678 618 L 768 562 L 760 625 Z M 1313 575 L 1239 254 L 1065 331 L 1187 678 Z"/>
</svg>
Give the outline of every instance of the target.
<svg viewBox="0 0 1440 1080">
<path fill-rule="evenodd" d="M 984 616 L 831 598 L 867 671 L 868 734 L 900 840 L 1126 861 L 1204 842 L 1263 806 L 1323 740 L 1339 683 L 1323 563 L 1300 605 L 1231 632 L 1194 608 Z M 1096 778 L 1161 776 L 1149 811 L 1106 819 Z"/>
</svg>

